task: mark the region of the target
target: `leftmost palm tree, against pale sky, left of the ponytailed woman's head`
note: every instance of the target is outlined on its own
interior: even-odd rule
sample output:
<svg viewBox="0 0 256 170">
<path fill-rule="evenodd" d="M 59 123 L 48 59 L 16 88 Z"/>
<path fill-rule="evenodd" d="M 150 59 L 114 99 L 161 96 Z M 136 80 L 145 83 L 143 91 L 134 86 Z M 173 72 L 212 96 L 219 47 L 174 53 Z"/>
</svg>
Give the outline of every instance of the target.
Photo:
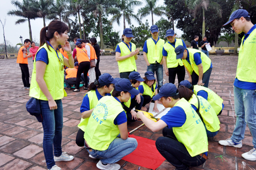
<svg viewBox="0 0 256 170">
<path fill-rule="evenodd" d="M 11 3 L 16 6 L 18 9 L 9 11 L 7 14 L 11 16 L 18 16 L 26 19 L 18 19 L 15 24 L 20 24 L 25 21 L 28 21 L 28 28 L 29 28 L 29 38 L 32 41 L 32 31 L 31 31 L 31 19 L 38 18 L 37 16 L 37 9 L 35 7 L 36 2 L 34 0 L 23 0 L 19 2 L 18 0 L 12 0 Z"/>
</svg>

